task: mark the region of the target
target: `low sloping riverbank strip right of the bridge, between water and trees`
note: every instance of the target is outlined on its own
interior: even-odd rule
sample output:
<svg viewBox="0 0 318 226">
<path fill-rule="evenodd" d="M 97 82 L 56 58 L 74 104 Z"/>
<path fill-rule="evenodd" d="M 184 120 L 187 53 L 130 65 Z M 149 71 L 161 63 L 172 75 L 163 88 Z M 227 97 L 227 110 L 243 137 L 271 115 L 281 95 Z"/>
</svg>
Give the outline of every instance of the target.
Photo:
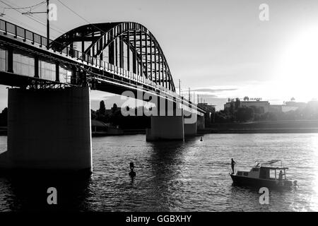
<svg viewBox="0 0 318 226">
<path fill-rule="evenodd" d="M 318 120 L 211 124 L 198 133 L 318 133 Z"/>
</svg>

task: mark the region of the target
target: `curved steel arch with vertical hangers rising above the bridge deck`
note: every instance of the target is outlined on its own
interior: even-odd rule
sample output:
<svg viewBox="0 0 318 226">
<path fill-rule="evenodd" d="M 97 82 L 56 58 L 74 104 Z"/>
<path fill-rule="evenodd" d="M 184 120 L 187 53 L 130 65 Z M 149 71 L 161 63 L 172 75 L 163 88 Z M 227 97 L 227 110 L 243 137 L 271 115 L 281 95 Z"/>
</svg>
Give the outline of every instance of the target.
<svg viewBox="0 0 318 226">
<path fill-rule="evenodd" d="M 175 83 L 160 44 L 139 23 L 82 25 L 69 30 L 50 44 L 52 49 L 59 52 L 78 46 L 81 49 L 79 58 L 106 61 L 175 92 Z"/>
</svg>

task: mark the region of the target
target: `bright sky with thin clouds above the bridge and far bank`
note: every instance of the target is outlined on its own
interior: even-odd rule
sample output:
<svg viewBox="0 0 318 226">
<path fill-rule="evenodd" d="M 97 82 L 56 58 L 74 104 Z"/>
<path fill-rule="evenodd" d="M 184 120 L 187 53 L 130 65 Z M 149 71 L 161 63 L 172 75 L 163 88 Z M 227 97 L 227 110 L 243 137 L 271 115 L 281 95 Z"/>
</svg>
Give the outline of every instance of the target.
<svg viewBox="0 0 318 226">
<path fill-rule="evenodd" d="M 41 0 L 2 0 L 14 7 Z M 146 26 L 163 48 L 175 86 L 190 87 L 223 109 L 228 97 L 262 97 L 271 103 L 318 98 L 317 0 L 61 0 L 90 23 L 135 21 Z M 59 1 L 51 38 L 86 21 Z M 269 5 L 269 21 L 259 20 L 260 4 Z M 1 11 L 7 7 L 0 1 Z M 36 8 L 45 10 L 45 5 Z M 5 9 L 3 18 L 45 35 L 46 28 Z M 33 18 L 45 23 L 45 15 Z M 7 105 L 0 85 L 0 109 Z M 92 92 L 92 107 L 107 107 L 120 97 Z"/>
</svg>

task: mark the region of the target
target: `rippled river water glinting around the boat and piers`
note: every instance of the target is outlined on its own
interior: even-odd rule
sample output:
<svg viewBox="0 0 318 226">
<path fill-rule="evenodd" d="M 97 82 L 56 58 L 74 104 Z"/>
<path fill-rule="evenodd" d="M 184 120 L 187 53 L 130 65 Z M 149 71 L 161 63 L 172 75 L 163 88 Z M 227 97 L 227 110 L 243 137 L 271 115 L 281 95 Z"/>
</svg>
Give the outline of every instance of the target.
<svg viewBox="0 0 318 226">
<path fill-rule="evenodd" d="M 0 136 L 0 153 L 6 136 Z M 270 191 L 232 186 L 230 159 L 249 170 L 255 161 L 281 159 L 298 189 Z M 131 179 L 129 162 L 136 178 Z M 47 205 L 47 187 L 58 204 Z M 203 141 L 151 143 L 144 135 L 93 138 L 93 175 L 66 182 L 0 177 L 0 211 L 317 211 L 318 134 L 206 134 Z"/>
</svg>

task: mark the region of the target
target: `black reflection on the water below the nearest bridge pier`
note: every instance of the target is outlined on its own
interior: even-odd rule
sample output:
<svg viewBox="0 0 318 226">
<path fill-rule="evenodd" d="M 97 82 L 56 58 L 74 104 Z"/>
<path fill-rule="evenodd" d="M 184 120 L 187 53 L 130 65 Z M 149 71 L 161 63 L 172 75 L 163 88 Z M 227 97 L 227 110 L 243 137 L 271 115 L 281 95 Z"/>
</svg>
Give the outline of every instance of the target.
<svg viewBox="0 0 318 226">
<path fill-rule="evenodd" d="M 90 179 L 57 179 L 54 177 L 33 177 L 8 179 L 8 194 L 4 197 L 11 210 L 79 210 L 84 208 L 88 196 Z M 57 204 L 47 204 L 47 189 L 57 189 Z"/>
</svg>

